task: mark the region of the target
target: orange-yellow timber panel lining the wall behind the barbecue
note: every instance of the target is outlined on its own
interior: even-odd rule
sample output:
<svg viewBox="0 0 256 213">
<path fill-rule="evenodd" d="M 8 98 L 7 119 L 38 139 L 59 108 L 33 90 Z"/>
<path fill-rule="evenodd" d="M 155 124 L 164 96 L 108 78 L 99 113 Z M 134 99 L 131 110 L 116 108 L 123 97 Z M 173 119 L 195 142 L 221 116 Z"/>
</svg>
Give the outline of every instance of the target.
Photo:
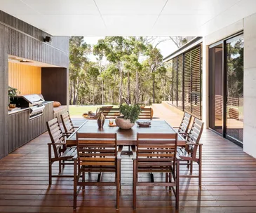
<svg viewBox="0 0 256 213">
<path fill-rule="evenodd" d="M 8 85 L 21 95 L 41 94 L 41 67 L 8 62 Z"/>
</svg>

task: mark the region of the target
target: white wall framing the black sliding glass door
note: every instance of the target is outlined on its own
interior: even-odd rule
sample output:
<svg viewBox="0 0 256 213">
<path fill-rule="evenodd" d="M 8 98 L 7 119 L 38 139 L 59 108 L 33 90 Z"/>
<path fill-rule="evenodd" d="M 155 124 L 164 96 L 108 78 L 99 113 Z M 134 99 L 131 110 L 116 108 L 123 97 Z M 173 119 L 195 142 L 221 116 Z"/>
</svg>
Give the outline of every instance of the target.
<svg viewBox="0 0 256 213">
<path fill-rule="evenodd" d="M 203 81 L 208 80 L 208 46 L 241 30 L 244 36 L 243 151 L 256 158 L 256 13 L 204 37 Z M 208 124 L 208 83 L 203 83 L 203 91 L 203 120 Z"/>
</svg>

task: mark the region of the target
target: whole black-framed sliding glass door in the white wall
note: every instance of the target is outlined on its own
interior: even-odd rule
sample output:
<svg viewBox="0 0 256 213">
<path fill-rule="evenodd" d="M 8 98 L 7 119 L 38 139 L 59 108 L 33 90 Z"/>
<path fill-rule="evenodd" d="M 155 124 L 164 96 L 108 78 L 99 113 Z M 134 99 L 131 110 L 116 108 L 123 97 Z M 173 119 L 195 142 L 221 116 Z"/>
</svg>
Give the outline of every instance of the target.
<svg viewBox="0 0 256 213">
<path fill-rule="evenodd" d="M 243 34 L 209 48 L 209 127 L 243 142 Z"/>
</svg>

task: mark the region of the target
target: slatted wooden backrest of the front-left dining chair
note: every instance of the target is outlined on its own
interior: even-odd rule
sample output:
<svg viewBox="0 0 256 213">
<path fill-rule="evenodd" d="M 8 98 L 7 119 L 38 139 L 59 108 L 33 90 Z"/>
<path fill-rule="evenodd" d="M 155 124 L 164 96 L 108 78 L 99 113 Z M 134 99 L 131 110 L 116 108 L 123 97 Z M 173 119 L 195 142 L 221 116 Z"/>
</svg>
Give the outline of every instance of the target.
<svg viewBox="0 0 256 213">
<path fill-rule="evenodd" d="M 116 167 L 116 133 L 76 133 L 79 165 Z"/>
</svg>

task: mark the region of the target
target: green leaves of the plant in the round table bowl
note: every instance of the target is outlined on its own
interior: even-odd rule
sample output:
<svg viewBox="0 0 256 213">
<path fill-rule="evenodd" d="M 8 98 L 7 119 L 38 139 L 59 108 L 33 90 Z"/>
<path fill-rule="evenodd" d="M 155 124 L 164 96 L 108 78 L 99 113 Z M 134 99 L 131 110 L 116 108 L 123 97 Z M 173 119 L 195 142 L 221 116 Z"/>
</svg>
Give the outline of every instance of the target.
<svg viewBox="0 0 256 213">
<path fill-rule="evenodd" d="M 121 114 L 123 114 L 124 119 L 129 119 L 130 123 L 135 123 L 135 121 L 137 120 L 137 118 L 139 118 L 140 115 L 140 106 L 139 104 L 122 104 L 120 106 L 120 112 Z"/>
</svg>

